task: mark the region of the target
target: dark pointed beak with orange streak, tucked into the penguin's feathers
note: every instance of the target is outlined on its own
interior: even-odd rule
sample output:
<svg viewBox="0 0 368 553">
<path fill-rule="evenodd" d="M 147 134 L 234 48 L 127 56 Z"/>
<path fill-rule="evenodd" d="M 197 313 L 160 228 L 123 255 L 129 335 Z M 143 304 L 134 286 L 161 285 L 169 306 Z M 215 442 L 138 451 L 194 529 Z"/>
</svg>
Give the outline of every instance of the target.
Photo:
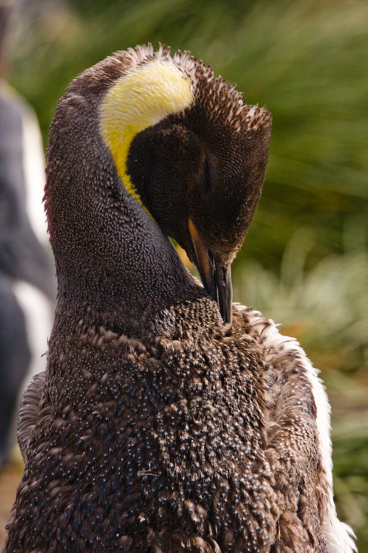
<svg viewBox="0 0 368 553">
<path fill-rule="evenodd" d="M 204 288 L 217 302 L 224 323 L 231 323 L 233 315 L 233 286 L 231 284 L 231 264 L 222 265 L 202 243 L 191 218 L 188 218 L 189 234 L 193 242 L 197 269 Z"/>
</svg>

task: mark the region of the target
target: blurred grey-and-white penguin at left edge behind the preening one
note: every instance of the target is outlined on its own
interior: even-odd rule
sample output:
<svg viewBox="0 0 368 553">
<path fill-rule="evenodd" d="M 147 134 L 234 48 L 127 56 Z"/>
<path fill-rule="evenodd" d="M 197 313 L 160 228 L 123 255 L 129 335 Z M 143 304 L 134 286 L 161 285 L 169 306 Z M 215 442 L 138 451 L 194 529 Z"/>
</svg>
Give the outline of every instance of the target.
<svg viewBox="0 0 368 553">
<path fill-rule="evenodd" d="M 16 443 L 20 395 L 44 371 L 55 270 L 43 213 L 44 156 L 34 113 L 6 83 L 10 2 L 0 0 L 0 468 Z"/>
</svg>

